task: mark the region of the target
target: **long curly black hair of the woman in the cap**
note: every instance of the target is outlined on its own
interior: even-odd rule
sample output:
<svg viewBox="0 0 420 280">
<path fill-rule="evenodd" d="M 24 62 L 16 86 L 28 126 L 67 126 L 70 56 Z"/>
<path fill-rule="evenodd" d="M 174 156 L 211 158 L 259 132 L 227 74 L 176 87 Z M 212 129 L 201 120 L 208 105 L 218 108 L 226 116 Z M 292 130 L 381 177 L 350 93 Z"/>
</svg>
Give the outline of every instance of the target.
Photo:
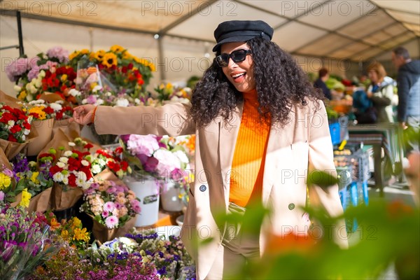
<svg viewBox="0 0 420 280">
<path fill-rule="evenodd" d="M 281 50 L 279 45 L 260 37 L 246 43 L 252 51 L 261 119 L 270 116 L 272 124 L 286 125 L 295 102 L 305 105 L 306 97 L 314 100 L 323 98 L 321 91 L 309 83 L 306 73 L 293 57 Z M 242 94 L 229 82 L 214 59 L 193 90 L 191 116 L 199 127 L 209 125 L 217 116 L 229 120 L 242 99 Z"/>
</svg>

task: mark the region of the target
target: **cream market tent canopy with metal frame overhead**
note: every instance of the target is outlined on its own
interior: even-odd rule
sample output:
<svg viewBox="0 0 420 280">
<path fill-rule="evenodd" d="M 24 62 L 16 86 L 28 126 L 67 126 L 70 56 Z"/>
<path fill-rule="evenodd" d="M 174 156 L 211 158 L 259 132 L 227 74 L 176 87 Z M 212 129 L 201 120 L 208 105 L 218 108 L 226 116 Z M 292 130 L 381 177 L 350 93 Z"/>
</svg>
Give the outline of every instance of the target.
<svg viewBox="0 0 420 280">
<path fill-rule="evenodd" d="M 420 1 L 1 1 L 2 15 L 214 43 L 225 20 L 265 20 L 293 55 L 366 61 L 420 36 Z"/>
</svg>

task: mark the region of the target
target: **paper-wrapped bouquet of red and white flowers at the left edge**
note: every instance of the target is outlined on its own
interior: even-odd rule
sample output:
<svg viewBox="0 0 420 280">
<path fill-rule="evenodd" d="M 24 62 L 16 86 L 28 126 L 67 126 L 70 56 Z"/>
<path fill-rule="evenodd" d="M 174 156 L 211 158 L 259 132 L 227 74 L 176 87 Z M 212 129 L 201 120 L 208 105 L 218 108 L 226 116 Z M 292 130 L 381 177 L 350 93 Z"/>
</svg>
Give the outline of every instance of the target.
<svg viewBox="0 0 420 280">
<path fill-rule="evenodd" d="M 0 102 L 0 148 L 11 160 L 29 143 L 32 116 Z M 36 133 L 32 134 L 34 137 Z M 28 137 L 29 138 L 29 137 Z"/>
</svg>

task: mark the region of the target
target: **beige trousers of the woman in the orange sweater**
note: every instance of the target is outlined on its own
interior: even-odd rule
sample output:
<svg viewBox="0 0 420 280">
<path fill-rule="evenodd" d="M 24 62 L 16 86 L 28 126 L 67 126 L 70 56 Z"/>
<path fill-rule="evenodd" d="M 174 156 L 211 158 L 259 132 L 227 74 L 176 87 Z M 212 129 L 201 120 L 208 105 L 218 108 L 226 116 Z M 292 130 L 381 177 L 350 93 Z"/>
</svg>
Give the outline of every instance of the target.
<svg viewBox="0 0 420 280">
<path fill-rule="evenodd" d="M 246 209 L 230 202 L 228 210 L 230 214 L 244 216 Z M 241 225 L 241 222 L 228 223 L 222 246 L 218 248 L 216 260 L 206 279 L 243 279 L 239 272 L 249 260 L 255 261 L 260 258 L 259 237 L 245 235 Z"/>
</svg>

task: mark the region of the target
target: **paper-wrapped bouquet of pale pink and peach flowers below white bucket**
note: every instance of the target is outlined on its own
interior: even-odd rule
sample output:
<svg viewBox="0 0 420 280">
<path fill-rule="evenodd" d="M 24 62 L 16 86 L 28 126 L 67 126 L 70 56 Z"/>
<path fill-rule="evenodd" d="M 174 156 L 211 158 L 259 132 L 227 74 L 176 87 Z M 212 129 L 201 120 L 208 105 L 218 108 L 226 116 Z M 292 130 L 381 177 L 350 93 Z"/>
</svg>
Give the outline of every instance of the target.
<svg viewBox="0 0 420 280">
<path fill-rule="evenodd" d="M 80 211 L 93 218 L 93 235 L 101 243 L 125 235 L 140 213 L 140 202 L 132 190 L 115 181 L 92 183 L 83 195 Z"/>
</svg>

